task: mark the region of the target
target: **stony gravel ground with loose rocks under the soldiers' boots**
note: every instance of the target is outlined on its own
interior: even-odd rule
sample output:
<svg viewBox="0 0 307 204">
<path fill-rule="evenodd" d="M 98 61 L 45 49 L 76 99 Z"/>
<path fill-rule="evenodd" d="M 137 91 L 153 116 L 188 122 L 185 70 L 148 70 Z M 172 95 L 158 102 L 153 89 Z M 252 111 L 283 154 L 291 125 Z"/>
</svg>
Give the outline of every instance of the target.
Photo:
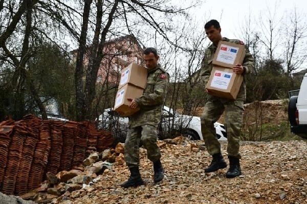
<svg viewBox="0 0 307 204">
<path fill-rule="evenodd" d="M 182 137 L 158 141 L 165 177 L 154 183 L 152 162 L 140 148 L 145 185 L 122 188 L 129 176 L 123 144 L 94 153 L 84 170 L 48 175 L 36 191 L 21 195 L 37 203 L 307 203 L 306 141 L 242 142 L 243 174 L 226 179 L 226 169 L 205 173 L 211 156 L 202 141 Z M 227 143 L 221 141 L 226 157 Z"/>
</svg>

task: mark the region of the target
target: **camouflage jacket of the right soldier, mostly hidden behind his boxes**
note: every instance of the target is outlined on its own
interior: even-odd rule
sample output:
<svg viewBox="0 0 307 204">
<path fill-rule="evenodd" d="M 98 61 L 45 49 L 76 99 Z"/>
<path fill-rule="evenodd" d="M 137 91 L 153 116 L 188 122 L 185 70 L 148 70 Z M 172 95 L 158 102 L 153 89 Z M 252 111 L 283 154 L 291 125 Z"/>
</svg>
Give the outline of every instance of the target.
<svg viewBox="0 0 307 204">
<path fill-rule="evenodd" d="M 227 41 L 227 42 L 231 42 L 231 43 L 235 43 L 235 44 L 243 44 L 242 41 L 240 40 L 230 40 L 228 38 L 223 38 L 222 41 Z M 210 74 L 211 74 L 211 70 L 213 68 L 213 65 L 212 65 L 212 59 L 213 59 L 213 56 L 214 56 L 214 53 L 215 53 L 215 50 L 216 50 L 216 46 L 214 44 L 211 44 L 205 51 L 205 56 L 203 58 L 203 61 L 202 61 L 202 68 L 201 68 L 201 80 L 204 82 L 204 84 L 206 85 L 208 80 L 209 80 L 209 77 L 210 77 Z M 245 58 L 244 58 L 244 61 L 243 61 L 243 67 L 245 68 L 245 72 L 243 73 L 244 74 L 244 80 L 243 80 L 243 83 L 240 87 L 240 90 L 238 92 L 238 95 L 237 95 L 237 98 L 236 100 L 246 100 L 246 77 L 245 77 L 245 74 L 246 73 L 249 73 L 249 72 L 252 72 L 253 71 L 253 68 L 254 68 L 254 58 L 252 56 L 252 54 L 249 52 L 249 49 L 247 46 L 245 46 Z M 210 97 L 215 97 L 215 96 L 209 96 L 209 99 Z M 225 100 L 230 100 L 230 99 L 225 99 Z"/>
</svg>

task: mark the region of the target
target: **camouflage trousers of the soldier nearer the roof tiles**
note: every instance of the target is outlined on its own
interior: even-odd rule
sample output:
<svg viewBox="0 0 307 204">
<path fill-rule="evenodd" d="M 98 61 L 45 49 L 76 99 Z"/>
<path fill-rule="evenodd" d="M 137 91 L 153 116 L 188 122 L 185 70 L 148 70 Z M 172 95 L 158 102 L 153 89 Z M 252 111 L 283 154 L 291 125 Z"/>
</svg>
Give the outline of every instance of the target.
<svg viewBox="0 0 307 204">
<path fill-rule="evenodd" d="M 150 124 L 129 128 L 125 141 L 125 161 L 129 168 L 139 166 L 140 141 L 142 141 L 143 146 L 147 149 L 147 158 L 151 162 L 156 162 L 161 158 L 157 137 L 157 127 Z"/>
</svg>

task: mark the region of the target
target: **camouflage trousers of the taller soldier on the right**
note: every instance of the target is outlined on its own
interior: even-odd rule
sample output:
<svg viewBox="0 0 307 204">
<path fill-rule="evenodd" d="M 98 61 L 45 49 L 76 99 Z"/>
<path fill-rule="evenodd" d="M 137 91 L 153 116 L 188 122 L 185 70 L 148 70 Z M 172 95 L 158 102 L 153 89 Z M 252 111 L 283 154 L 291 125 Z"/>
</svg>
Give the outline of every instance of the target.
<svg viewBox="0 0 307 204">
<path fill-rule="evenodd" d="M 227 131 L 227 153 L 229 156 L 239 155 L 239 135 L 243 122 L 243 101 L 228 100 L 214 97 L 205 104 L 205 109 L 201 117 L 202 135 L 206 143 L 207 151 L 210 155 L 221 152 L 221 144 L 216 138 L 214 122 L 225 112 L 225 127 Z"/>
</svg>

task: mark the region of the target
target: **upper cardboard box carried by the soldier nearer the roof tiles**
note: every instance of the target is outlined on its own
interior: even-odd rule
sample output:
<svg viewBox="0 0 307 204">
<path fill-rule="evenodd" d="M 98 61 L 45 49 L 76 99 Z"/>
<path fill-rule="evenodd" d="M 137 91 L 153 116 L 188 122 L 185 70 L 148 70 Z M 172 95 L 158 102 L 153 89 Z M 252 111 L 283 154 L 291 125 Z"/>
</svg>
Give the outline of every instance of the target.
<svg viewBox="0 0 307 204">
<path fill-rule="evenodd" d="M 126 84 L 133 84 L 142 89 L 145 89 L 147 82 L 147 69 L 138 65 L 135 62 L 130 63 L 127 67 L 121 71 L 121 78 L 118 88 L 123 87 Z"/>
</svg>

